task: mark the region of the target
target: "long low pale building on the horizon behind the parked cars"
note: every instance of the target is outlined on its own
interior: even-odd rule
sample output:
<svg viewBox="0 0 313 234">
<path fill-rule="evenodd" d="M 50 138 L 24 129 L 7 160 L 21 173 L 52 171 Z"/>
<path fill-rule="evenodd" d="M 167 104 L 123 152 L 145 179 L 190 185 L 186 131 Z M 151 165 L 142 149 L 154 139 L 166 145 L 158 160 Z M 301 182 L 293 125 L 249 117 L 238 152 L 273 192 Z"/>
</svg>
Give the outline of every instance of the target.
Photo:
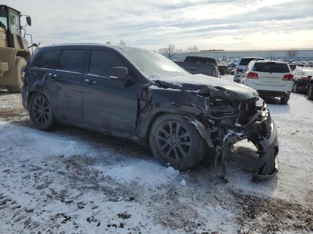
<svg viewBox="0 0 313 234">
<path fill-rule="evenodd" d="M 183 59 L 186 56 L 207 56 L 221 59 L 237 59 L 241 57 L 262 57 L 265 59 L 291 59 L 289 51 L 296 51 L 296 55 L 292 59 L 297 61 L 312 61 L 313 48 L 305 49 L 279 49 L 279 50 L 231 50 L 231 51 L 199 51 L 190 53 L 173 53 L 171 59 Z M 165 55 L 166 56 L 166 55 Z"/>
</svg>

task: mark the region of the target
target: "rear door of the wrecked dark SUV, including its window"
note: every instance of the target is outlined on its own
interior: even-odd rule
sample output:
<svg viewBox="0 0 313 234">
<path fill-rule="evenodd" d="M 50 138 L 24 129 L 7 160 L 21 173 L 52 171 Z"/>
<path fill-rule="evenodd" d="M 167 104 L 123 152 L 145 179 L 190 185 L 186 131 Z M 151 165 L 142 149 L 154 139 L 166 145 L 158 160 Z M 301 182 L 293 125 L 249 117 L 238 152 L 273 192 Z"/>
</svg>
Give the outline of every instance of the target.
<svg viewBox="0 0 313 234">
<path fill-rule="evenodd" d="M 65 48 L 57 62 L 57 69 L 44 80 L 44 94 L 58 109 L 58 116 L 76 122 L 83 121 L 82 77 L 85 68 L 86 50 Z"/>
</svg>

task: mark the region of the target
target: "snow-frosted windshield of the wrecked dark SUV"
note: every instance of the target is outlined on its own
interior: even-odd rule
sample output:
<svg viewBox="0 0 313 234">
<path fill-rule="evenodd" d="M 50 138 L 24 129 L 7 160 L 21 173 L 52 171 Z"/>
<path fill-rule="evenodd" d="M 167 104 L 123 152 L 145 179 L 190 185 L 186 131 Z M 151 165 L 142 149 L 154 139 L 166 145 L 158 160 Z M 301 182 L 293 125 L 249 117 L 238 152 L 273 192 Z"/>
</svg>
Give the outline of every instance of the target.
<svg viewBox="0 0 313 234">
<path fill-rule="evenodd" d="M 146 78 L 157 80 L 162 77 L 190 75 L 175 62 L 153 51 L 130 47 L 118 47 L 121 52 Z"/>
</svg>

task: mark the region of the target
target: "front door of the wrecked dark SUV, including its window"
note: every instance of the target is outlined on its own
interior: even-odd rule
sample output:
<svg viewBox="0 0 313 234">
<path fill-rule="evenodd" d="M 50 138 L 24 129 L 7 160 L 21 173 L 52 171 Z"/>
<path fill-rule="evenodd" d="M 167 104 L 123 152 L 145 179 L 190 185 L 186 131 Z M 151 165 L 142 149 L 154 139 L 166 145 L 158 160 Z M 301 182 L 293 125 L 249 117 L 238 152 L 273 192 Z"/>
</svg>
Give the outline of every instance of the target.
<svg viewBox="0 0 313 234">
<path fill-rule="evenodd" d="M 110 78 L 112 67 L 127 67 L 112 51 L 91 49 L 89 71 L 83 78 L 85 123 L 135 135 L 137 116 L 136 83 Z M 128 69 L 129 74 L 131 71 Z"/>
</svg>

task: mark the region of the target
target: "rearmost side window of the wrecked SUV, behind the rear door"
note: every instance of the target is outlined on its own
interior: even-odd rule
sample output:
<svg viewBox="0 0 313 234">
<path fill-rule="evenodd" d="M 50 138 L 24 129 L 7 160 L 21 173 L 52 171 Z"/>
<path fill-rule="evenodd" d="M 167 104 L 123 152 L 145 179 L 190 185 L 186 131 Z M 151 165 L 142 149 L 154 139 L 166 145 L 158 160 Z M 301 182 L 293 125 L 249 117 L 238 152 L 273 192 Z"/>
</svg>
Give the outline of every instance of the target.
<svg viewBox="0 0 313 234">
<path fill-rule="evenodd" d="M 33 61 L 33 67 L 55 69 L 59 57 L 59 50 L 45 50 Z"/>
</svg>

